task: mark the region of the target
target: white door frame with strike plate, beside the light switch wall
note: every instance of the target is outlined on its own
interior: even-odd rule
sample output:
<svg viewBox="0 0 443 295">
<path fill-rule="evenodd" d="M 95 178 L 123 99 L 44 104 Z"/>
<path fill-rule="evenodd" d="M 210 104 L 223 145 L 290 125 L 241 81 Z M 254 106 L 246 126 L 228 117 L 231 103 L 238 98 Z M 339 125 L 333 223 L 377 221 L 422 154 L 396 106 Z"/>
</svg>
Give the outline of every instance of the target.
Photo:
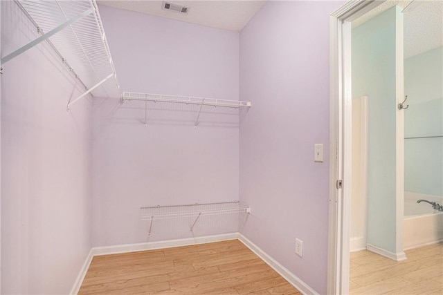
<svg viewBox="0 0 443 295">
<path fill-rule="evenodd" d="M 327 294 L 349 294 L 351 21 L 386 0 L 352 0 L 330 17 L 329 237 Z M 342 187 L 337 181 L 342 180 Z"/>
</svg>

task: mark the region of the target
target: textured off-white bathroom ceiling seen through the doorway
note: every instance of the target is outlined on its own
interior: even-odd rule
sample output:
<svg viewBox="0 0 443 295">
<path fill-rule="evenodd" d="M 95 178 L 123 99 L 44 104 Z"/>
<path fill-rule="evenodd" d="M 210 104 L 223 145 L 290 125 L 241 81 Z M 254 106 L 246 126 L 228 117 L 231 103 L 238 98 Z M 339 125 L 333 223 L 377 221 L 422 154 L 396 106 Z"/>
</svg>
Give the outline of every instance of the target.
<svg viewBox="0 0 443 295">
<path fill-rule="evenodd" d="M 408 6 L 410 4 L 410 6 Z M 388 0 L 352 22 L 352 27 L 376 17 L 393 6 L 404 10 L 404 58 L 443 46 L 443 0 Z"/>
</svg>

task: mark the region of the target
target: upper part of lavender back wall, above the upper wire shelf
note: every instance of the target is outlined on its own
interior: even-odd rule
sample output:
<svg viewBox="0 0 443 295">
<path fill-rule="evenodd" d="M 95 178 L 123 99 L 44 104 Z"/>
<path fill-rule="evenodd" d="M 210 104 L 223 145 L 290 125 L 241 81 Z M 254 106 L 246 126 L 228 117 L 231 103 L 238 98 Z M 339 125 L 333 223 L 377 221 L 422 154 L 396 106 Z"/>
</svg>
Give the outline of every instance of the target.
<svg viewBox="0 0 443 295">
<path fill-rule="evenodd" d="M 123 91 L 238 99 L 238 32 L 99 9 Z"/>
</svg>

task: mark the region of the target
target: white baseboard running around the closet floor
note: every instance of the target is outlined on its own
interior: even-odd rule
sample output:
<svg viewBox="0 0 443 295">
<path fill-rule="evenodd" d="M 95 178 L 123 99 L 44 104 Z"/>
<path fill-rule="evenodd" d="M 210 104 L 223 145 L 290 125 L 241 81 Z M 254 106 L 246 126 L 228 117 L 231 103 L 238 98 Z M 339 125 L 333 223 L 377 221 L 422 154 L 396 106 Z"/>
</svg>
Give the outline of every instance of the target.
<svg viewBox="0 0 443 295">
<path fill-rule="evenodd" d="M 201 236 L 196 238 L 183 238 L 180 240 L 165 240 L 160 242 L 142 242 L 138 244 L 129 245 L 116 245 L 108 247 L 93 247 L 89 252 L 82 269 L 80 269 L 80 274 L 78 274 L 77 279 L 71 289 L 71 294 L 78 294 L 80 287 L 82 286 L 84 276 L 86 276 L 89 265 L 91 264 L 93 256 L 109 255 L 109 254 L 120 254 L 135 251 L 145 251 L 152 249 L 165 249 L 170 247 L 180 247 L 188 245 L 206 244 L 208 242 L 221 242 L 223 240 L 235 240 L 238 239 L 246 247 L 251 249 L 257 256 L 259 256 L 267 265 L 272 267 L 275 272 L 278 272 L 280 276 L 286 279 L 291 285 L 296 287 L 302 294 L 318 294 L 314 289 L 309 287 L 305 282 L 300 280 L 297 276 L 289 272 L 289 270 L 274 260 L 271 256 L 266 254 L 262 249 L 257 247 L 253 242 L 248 240 L 245 236 L 239 233 L 231 234 L 221 234 L 215 236 Z"/>
</svg>

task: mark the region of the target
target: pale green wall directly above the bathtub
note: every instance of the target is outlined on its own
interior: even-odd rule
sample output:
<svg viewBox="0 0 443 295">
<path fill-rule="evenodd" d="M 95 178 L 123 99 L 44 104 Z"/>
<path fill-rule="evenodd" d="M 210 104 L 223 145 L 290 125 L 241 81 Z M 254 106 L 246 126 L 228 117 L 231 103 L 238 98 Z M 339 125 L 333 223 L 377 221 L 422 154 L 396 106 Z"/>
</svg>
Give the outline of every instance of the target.
<svg viewBox="0 0 443 295">
<path fill-rule="evenodd" d="M 443 196 L 443 47 L 404 61 L 405 191 Z"/>
</svg>

